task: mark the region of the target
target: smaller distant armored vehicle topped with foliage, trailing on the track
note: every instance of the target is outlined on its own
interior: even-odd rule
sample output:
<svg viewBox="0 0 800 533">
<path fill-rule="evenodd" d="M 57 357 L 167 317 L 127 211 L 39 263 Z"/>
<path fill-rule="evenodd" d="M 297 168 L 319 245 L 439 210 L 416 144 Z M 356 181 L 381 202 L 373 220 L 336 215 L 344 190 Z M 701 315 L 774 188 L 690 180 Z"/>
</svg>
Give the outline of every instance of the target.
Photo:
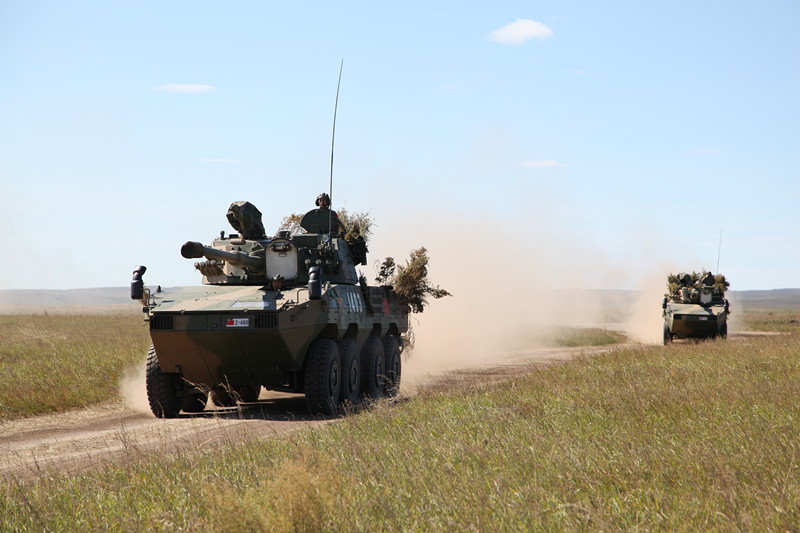
<svg viewBox="0 0 800 533">
<path fill-rule="evenodd" d="M 725 338 L 730 305 L 725 291 L 730 285 L 723 275 L 703 271 L 670 275 L 669 292 L 662 302 L 664 344 L 674 338 Z"/>
</svg>

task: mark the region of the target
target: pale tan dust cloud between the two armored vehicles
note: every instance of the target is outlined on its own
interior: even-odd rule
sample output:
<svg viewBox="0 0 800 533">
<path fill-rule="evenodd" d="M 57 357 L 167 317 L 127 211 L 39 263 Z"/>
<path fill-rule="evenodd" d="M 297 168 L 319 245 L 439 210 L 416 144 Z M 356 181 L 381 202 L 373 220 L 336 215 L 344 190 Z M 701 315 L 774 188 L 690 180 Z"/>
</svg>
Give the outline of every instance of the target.
<svg viewBox="0 0 800 533">
<path fill-rule="evenodd" d="M 513 226 L 487 224 L 485 217 L 413 219 L 437 220 L 436 231 L 406 222 L 402 234 L 376 234 L 370 243 L 372 261 L 391 255 L 400 264 L 412 249 L 425 246 L 430 281 L 453 294 L 429 299 L 423 313 L 410 316 L 415 345 L 403 376 L 411 383 L 531 353 L 542 347 L 543 334 L 564 326 L 614 329 L 635 342 L 661 342 L 663 265 L 651 265 L 652 279 L 639 280 L 626 261 L 556 230 L 503 231 Z M 626 283 L 633 290 L 618 290 Z"/>
</svg>

